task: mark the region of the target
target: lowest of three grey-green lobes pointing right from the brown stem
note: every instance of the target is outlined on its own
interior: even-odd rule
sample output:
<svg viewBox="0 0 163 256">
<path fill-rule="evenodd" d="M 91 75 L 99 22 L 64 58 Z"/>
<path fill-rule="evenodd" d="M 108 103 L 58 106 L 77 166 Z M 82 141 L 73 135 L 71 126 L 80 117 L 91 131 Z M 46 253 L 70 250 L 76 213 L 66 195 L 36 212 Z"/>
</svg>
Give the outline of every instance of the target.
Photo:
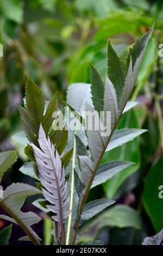
<svg viewBox="0 0 163 256">
<path fill-rule="evenodd" d="M 88 220 L 90 220 L 93 216 L 99 214 L 99 212 L 103 211 L 108 206 L 114 204 L 115 201 L 108 199 L 98 199 L 91 201 L 84 206 L 83 214 L 80 220 L 80 227 Z"/>
</svg>

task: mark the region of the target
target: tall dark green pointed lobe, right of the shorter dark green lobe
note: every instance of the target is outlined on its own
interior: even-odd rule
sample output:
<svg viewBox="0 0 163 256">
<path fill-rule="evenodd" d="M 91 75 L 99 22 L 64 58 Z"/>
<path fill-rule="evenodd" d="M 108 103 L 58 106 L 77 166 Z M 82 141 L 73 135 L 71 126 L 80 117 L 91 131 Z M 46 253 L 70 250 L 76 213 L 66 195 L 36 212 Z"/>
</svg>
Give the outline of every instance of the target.
<svg viewBox="0 0 163 256">
<path fill-rule="evenodd" d="M 115 87 L 117 103 L 118 107 L 120 107 L 120 100 L 125 80 L 124 68 L 120 58 L 117 56 L 114 48 L 112 48 L 110 40 L 108 41 L 108 76 Z"/>
</svg>

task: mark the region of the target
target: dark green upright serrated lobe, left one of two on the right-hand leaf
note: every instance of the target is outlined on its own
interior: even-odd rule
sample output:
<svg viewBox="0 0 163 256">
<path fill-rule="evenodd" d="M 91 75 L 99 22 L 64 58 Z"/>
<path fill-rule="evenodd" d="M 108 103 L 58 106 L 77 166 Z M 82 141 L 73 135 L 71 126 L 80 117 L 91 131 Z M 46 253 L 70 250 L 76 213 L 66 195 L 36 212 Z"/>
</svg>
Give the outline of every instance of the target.
<svg viewBox="0 0 163 256">
<path fill-rule="evenodd" d="M 92 102 L 96 111 L 99 113 L 103 111 L 104 108 L 104 84 L 95 66 L 93 66 L 90 62 L 89 66 L 91 75 Z"/>
</svg>

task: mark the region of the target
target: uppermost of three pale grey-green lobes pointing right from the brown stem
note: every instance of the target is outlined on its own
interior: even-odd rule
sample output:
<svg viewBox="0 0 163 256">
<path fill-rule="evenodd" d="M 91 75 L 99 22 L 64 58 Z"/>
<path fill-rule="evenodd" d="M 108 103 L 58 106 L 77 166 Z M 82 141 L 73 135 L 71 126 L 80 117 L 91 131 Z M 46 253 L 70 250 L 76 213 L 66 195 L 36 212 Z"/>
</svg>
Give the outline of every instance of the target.
<svg viewBox="0 0 163 256">
<path fill-rule="evenodd" d="M 142 133 L 146 132 L 147 130 L 144 129 L 120 129 L 115 130 L 113 133 L 109 145 L 106 148 L 106 151 L 109 151 L 111 149 L 120 147 L 124 143 L 127 143 L 129 141 L 133 141 L 134 138 L 137 136 L 140 136 Z"/>
</svg>

